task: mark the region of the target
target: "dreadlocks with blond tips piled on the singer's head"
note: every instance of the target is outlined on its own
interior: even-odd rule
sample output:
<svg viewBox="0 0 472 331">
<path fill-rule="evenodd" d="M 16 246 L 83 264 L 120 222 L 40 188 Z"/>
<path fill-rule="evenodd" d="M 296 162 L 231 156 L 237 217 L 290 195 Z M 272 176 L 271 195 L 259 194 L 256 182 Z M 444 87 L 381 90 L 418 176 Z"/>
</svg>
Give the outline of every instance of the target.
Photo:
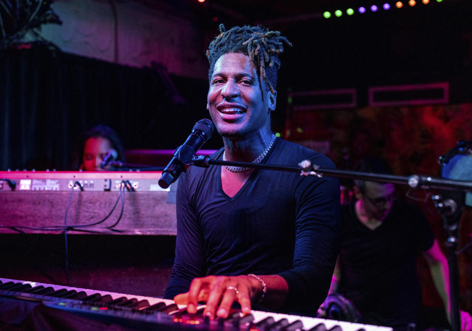
<svg viewBox="0 0 472 331">
<path fill-rule="evenodd" d="M 278 55 L 284 51 L 283 43 L 292 46 L 287 38 L 280 36 L 279 31 L 251 26 L 234 27 L 226 31 L 225 26 L 220 24 L 220 34 L 210 43 L 207 50 L 210 62 L 208 80 L 211 79 L 215 62 L 221 55 L 242 53 L 248 55 L 256 65 L 260 83 L 266 82 L 275 95 L 277 70 L 280 68 Z"/>
</svg>

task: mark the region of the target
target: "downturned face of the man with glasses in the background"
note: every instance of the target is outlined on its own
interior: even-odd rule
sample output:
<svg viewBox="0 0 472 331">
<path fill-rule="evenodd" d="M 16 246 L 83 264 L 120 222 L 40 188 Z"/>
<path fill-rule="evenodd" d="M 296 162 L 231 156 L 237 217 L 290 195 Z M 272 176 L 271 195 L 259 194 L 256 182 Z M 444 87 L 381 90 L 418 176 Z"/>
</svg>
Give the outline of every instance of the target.
<svg viewBox="0 0 472 331">
<path fill-rule="evenodd" d="M 393 184 L 366 182 L 365 192 L 361 192 L 364 207 L 369 218 L 383 221 L 392 209 L 395 196 Z"/>
</svg>

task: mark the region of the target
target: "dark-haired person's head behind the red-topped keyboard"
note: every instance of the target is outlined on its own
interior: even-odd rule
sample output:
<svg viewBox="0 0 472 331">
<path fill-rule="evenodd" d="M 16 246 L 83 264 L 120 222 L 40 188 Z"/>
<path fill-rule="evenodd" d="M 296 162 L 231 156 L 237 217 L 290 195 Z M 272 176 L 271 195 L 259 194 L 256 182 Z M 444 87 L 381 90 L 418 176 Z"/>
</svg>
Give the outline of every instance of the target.
<svg viewBox="0 0 472 331">
<path fill-rule="evenodd" d="M 99 124 L 87 131 L 82 138 L 79 153 L 76 153 L 76 164 L 81 162 L 79 170 L 104 171 L 110 170 L 111 165 L 101 167 L 101 163 L 107 154 L 114 154 L 113 161 L 124 162 L 123 147 L 118 134 L 112 128 Z M 79 161 L 80 160 L 80 161 Z M 77 168 L 77 165 L 74 166 Z"/>
</svg>

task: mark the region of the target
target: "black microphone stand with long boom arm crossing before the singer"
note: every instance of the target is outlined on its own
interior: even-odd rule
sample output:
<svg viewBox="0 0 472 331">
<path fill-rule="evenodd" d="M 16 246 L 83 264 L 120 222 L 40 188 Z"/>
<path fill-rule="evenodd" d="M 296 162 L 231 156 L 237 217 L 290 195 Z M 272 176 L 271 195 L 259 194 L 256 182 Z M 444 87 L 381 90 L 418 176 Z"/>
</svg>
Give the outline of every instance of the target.
<svg viewBox="0 0 472 331">
<path fill-rule="evenodd" d="M 207 155 L 194 156 L 190 165 L 209 167 L 210 165 L 233 165 L 252 167 L 256 169 L 282 170 L 290 172 L 300 172 L 304 176 L 329 176 L 339 178 L 351 178 L 358 180 L 392 183 L 408 185 L 412 189 L 440 189 L 445 191 L 455 191 L 459 193 L 472 192 L 472 182 L 434 178 L 431 176 L 411 175 L 396 176 L 388 174 L 378 174 L 371 172 L 324 169 L 313 165 L 310 160 L 303 160 L 298 166 L 290 165 L 265 165 L 250 162 L 213 160 Z M 461 195 L 458 196 L 461 198 Z M 453 198 L 444 199 L 441 195 L 434 195 L 435 207 L 442 217 L 443 227 L 446 232 L 447 264 L 449 267 L 449 287 L 451 303 L 451 327 L 452 331 L 461 330 L 460 310 L 459 310 L 459 272 L 457 265 L 458 246 L 458 224 L 463 208 L 462 203 L 456 202 Z"/>
</svg>

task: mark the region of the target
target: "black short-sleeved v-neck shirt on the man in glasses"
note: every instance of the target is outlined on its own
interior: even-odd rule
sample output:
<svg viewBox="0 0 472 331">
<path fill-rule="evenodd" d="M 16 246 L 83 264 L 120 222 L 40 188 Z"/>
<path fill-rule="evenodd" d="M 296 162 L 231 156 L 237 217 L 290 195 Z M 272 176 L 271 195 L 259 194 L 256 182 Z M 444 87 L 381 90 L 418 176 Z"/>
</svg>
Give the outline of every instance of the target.
<svg viewBox="0 0 472 331">
<path fill-rule="evenodd" d="M 339 292 L 351 300 L 364 323 L 382 326 L 416 322 L 421 292 L 419 252 L 434 234 L 418 207 L 394 201 L 383 223 L 371 230 L 355 215 L 355 202 L 341 206 Z"/>
</svg>

